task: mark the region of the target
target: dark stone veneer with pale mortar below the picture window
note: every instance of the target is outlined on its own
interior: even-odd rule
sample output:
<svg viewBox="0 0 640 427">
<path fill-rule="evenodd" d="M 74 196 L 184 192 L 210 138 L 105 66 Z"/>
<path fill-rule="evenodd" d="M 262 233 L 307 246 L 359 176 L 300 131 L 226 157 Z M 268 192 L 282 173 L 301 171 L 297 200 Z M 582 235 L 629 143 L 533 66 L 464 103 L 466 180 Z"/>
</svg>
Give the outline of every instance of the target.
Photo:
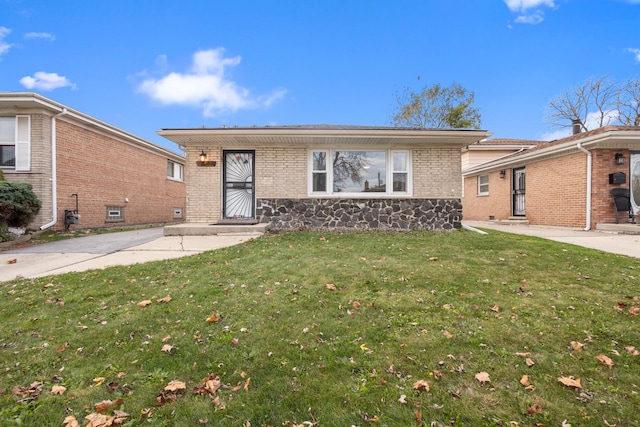
<svg viewBox="0 0 640 427">
<path fill-rule="evenodd" d="M 460 199 L 258 199 L 256 217 L 276 230 L 462 228 Z"/>
</svg>

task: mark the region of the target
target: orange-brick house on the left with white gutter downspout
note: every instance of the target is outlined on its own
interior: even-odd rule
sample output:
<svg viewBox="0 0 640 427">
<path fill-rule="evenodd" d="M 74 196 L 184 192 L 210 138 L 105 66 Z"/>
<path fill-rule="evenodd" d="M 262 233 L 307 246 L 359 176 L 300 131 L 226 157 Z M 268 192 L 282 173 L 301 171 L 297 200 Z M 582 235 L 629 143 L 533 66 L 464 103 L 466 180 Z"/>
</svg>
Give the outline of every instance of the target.
<svg viewBox="0 0 640 427">
<path fill-rule="evenodd" d="M 35 93 L 0 92 L 0 168 L 42 202 L 33 229 L 183 221 L 184 157 Z"/>
</svg>

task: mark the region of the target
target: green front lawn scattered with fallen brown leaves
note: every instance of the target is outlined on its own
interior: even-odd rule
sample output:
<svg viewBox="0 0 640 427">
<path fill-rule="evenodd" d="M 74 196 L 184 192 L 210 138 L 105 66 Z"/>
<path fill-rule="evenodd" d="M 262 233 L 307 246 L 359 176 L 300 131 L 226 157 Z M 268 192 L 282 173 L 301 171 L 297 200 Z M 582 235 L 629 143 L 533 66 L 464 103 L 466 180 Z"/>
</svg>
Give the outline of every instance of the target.
<svg viewBox="0 0 640 427">
<path fill-rule="evenodd" d="M 638 426 L 639 279 L 639 259 L 460 231 L 284 233 L 4 282 L 0 425 L 85 425 L 122 398 L 124 425 Z M 213 374 L 224 409 L 192 392 Z"/>
</svg>

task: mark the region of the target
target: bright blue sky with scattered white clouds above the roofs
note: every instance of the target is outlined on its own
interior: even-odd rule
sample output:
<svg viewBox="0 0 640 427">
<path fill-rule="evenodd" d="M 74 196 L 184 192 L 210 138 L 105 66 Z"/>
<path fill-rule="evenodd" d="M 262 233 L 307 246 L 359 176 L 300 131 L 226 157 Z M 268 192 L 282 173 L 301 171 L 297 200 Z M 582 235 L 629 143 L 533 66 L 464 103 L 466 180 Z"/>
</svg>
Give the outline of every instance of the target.
<svg viewBox="0 0 640 427">
<path fill-rule="evenodd" d="M 389 125 L 457 82 L 496 138 L 553 139 L 551 98 L 640 75 L 640 0 L 0 0 L 0 91 L 176 150 L 162 128 Z"/>
</svg>

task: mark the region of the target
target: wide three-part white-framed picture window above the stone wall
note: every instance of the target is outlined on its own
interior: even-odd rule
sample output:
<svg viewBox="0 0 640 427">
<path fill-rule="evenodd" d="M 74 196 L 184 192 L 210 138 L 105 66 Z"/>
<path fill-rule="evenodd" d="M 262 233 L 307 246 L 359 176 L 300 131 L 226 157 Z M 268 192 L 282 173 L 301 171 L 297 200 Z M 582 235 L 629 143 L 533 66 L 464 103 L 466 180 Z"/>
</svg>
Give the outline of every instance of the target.
<svg viewBox="0 0 640 427">
<path fill-rule="evenodd" d="M 411 193 L 409 150 L 312 150 L 309 193 L 362 196 Z"/>
</svg>

